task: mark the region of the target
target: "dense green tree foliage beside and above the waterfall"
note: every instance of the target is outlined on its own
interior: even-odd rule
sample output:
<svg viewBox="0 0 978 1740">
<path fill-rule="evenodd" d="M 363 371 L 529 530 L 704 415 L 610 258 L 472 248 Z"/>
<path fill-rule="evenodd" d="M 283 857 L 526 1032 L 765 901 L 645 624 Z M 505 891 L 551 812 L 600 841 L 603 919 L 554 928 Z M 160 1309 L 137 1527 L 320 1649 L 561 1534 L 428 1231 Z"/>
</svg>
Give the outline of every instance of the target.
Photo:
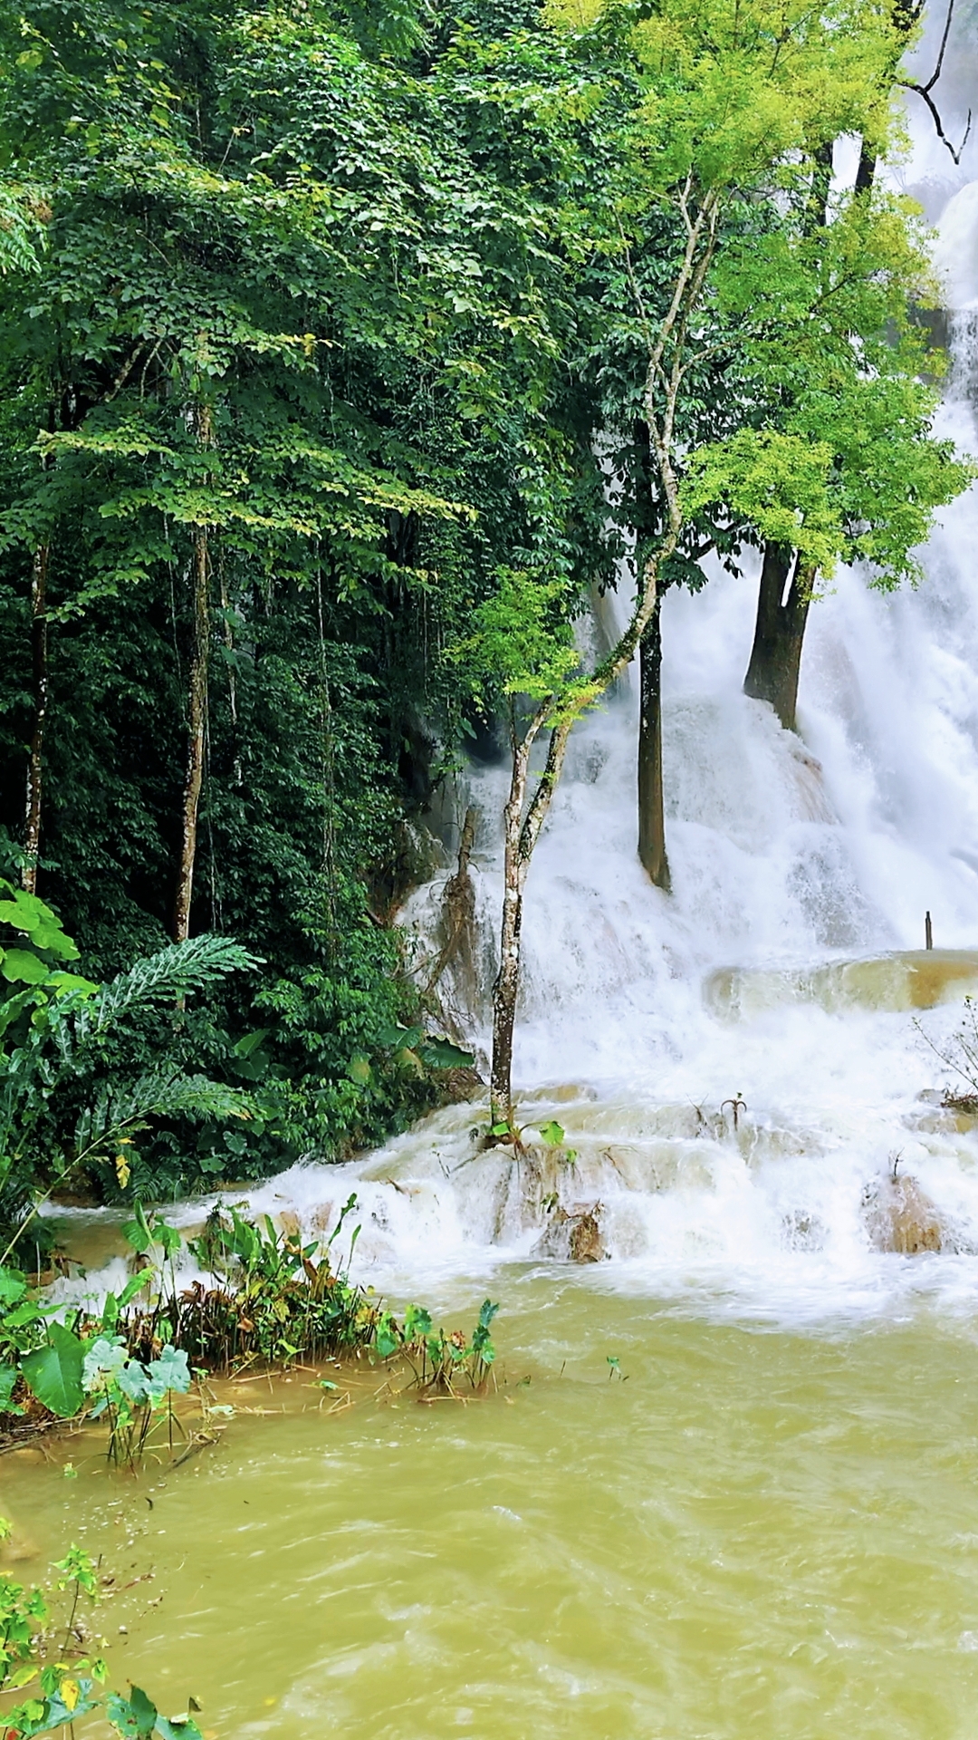
<svg viewBox="0 0 978 1740">
<path fill-rule="evenodd" d="M 97 1068 L 251 1115 L 158 1107 L 125 1168 L 92 1148 L 104 1194 L 435 1101 L 392 927 L 437 851 L 414 820 L 501 696 L 588 705 L 571 623 L 632 534 L 677 520 L 661 585 L 764 539 L 914 572 L 966 480 L 924 256 L 825 176 L 835 134 L 891 136 L 903 44 L 870 0 L 0 5 L 7 873 L 78 941 L 68 1023 L 169 934 L 249 955 Z M 66 1152 L 38 1134 L 42 1181 Z"/>
</svg>

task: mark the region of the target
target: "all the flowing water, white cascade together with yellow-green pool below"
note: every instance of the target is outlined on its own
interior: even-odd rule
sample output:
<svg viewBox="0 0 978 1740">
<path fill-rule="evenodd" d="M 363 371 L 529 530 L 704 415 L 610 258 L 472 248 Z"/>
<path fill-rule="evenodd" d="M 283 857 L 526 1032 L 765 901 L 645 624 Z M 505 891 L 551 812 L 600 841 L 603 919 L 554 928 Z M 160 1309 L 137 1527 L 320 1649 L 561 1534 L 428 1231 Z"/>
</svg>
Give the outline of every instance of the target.
<svg viewBox="0 0 978 1740">
<path fill-rule="evenodd" d="M 943 223 L 962 306 L 976 228 L 978 183 Z M 973 329 L 943 412 L 971 449 Z M 117 1676 L 193 1695 L 219 1740 L 969 1740 L 978 1136 L 936 1051 L 978 992 L 976 550 L 973 491 L 919 592 L 837 576 L 799 736 L 740 689 L 755 576 L 668 595 L 673 893 L 635 858 L 626 686 L 529 879 L 520 1117 L 562 1152 L 480 1152 L 473 1103 L 251 1194 L 320 1230 L 355 1188 L 357 1275 L 444 1321 L 501 1300 L 496 1395 L 357 1376 L 329 1411 L 298 1373 L 230 1385 L 223 1444 L 167 1476 L 110 1479 L 94 1437 L 70 1484 L 3 1462 L 24 1575 L 70 1507 L 104 1554 Z M 442 985 L 477 1049 L 503 780 L 449 806 L 480 816 Z M 405 914 L 419 959 L 447 873 Z"/>
</svg>

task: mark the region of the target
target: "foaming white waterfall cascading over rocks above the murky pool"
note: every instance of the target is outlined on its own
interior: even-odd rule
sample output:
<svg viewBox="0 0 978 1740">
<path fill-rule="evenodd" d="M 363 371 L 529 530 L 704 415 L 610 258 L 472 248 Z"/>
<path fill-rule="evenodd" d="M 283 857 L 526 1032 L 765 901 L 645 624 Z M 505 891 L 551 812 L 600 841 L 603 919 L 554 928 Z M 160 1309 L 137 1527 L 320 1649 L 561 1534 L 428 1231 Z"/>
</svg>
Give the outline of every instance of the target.
<svg viewBox="0 0 978 1740">
<path fill-rule="evenodd" d="M 976 230 L 973 183 L 938 251 L 957 308 L 976 287 Z M 975 451 L 964 317 L 957 345 L 943 432 Z M 482 1152 L 486 1112 L 466 1105 L 364 1162 L 294 1168 L 252 1206 L 317 1228 L 355 1188 L 360 1272 L 397 1291 L 566 1255 L 567 1227 L 592 1213 L 590 1255 L 611 1258 L 595 1275 L 712 1308 L 969 1302 L 978 1134 L 936 1103 L 950 1075 L 928 1037 L 947 1042 L 978 974 L 948 981 L 917 1025 L 900 962 L 842 962 L 922 948 L 926 910 L 938 948 L 978 950 L 976 552 L 973 489 L 943 513 L 917 592 L 839 572 L 811 611 L 797 736 L 741 693 L 757 574 L 668 593 L 670 896 L 635 854 L 635 680 L 578 727 L 527 884 L 515 1053 L 527 1141 L 557 1117 L 573 1164 Z M 482 1060 L 505 783 L 472 771 L 454 793 L 459 818 L 479 809 L 477 936 L 472 971 L 449 966 L 440 988 Z M 445 877 L 405 912 L 419 959 L 437 954 Z M 894 1171 L 929 1199 L 940 1255 L 874 1248 Z"/>
</svg>

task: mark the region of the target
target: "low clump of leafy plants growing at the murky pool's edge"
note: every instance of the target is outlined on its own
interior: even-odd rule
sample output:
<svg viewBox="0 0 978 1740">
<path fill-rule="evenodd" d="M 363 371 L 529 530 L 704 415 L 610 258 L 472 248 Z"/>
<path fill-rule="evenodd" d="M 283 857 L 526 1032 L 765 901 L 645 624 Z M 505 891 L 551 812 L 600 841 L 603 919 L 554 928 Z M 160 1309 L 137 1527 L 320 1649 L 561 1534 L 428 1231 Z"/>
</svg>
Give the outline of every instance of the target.
<svg viewBox="0 0 978 1740">
<path fill-rule="evenodd" d="M 23 1270 L 0 1268 L 0 1448 L 57 1420 L 103 1420 L 106 1455 L 134 1472 L 146 1455 L 188 1446 L 176 1399 L 197 1385 L 204 1436 L 218 1413 L 207 1378 L 367 1359 L 411 1371 L 419 1399 L 484 1394 L 496 1350 L 486 1300 L 470 1336 L 435 1328 L 423 1305 L 404 1319 L 350 1281 L 358 1225 L 352 1195 L 332 1234 L 303 1239 L 265 1216 L 211 1209 L 197 1237 L 136 1204 L 124 1227 L 134 1272 L 124 1289 L 70 1308 Z M 346 1260 L 334 1246 L 348 1228 Z M 190 1274 L 188 1274 L 190 1265 Z M 327 1390 L 336 1383 L 324 1380 Z"/>
</svg>

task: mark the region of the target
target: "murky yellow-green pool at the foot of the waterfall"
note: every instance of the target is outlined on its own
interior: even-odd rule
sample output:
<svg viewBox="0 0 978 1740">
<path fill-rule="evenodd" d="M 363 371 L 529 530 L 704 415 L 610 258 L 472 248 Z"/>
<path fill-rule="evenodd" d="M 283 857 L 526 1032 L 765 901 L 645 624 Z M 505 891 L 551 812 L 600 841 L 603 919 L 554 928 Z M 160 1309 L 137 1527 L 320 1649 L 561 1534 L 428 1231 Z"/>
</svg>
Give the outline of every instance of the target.
<svg viewBox="0 0 978 1740">
<path fill-rule="evenodd" d="M 70 1536 L 151 1571 L 97 1613 L 113 1676 L 219 1740 L 971 1740 L 975 1326 L 800 1335 L 606 1286 L 496 1275 L 508 1383 L 468 1408 L 371 1380 L 331 1415 L 299 1373 L 178 1472 L 7 1456 L 17 1571 Z"/>
</svg>

